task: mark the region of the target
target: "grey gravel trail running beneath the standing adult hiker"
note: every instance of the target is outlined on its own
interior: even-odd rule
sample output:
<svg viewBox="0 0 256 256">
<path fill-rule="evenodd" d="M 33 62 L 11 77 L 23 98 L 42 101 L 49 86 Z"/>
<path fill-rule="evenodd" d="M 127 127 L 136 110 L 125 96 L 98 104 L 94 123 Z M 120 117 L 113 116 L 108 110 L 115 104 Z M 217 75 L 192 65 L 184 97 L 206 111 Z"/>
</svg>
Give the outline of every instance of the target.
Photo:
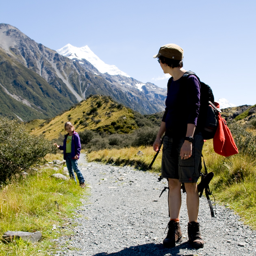
<svg viewBox="0 0 256 256">
<path fill-rule="evenodd" d="M 70 220 L 78 223 L 73 234 L 54 239 L 59 246 L 56 256 L 256 256 L 256 231 L 223 206 L 216 206 L 212 218 L 206 198 L 200 198 L 199 209 L 204 248 L 193 249 L 188 243 L 185 193 L 180 212 L 183 241 L 164 248 L 168 192 L 159 195 L 166 180 L 158 182 L 156 174 L 132 167 L 87 163 L 85 154 L 78 163 L 91 196 Z"/>
</svg>

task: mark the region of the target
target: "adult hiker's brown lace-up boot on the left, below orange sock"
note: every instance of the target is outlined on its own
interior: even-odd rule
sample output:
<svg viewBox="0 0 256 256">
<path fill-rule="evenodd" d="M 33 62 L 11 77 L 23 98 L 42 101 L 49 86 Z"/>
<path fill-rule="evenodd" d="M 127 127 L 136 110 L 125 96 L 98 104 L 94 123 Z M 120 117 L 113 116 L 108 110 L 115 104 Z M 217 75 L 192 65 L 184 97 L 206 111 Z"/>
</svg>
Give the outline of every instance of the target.
<svg viewBox="0 0 256 256">
<path fill-rule="evenodd" d="M 175 247 L 175 244 L 182 241 L 180 230 L 180 222 L 169 221 L 167 236 L 163 241 L 163 246 L 170 248 Z"/>
</svg>

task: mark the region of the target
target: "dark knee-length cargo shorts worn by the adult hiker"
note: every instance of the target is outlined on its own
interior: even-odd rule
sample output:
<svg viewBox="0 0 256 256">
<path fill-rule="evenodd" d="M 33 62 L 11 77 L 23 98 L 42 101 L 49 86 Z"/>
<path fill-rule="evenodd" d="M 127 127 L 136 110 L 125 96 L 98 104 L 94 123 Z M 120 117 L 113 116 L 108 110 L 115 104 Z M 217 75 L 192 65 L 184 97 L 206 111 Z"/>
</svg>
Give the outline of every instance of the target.
<svg viewBox="0 0 256 256">
<path fill-rule="evenodd" d="M 182 183 L 197 182 L 200 177 L 202 148 L 204 139 L 201 133 L 194 135 L 192 156 L 181 159 L 180 149 L 184 138 L 174 139 L 168 136 L 163 138 L 162 178 L 178 179 Z"/>
</svg>

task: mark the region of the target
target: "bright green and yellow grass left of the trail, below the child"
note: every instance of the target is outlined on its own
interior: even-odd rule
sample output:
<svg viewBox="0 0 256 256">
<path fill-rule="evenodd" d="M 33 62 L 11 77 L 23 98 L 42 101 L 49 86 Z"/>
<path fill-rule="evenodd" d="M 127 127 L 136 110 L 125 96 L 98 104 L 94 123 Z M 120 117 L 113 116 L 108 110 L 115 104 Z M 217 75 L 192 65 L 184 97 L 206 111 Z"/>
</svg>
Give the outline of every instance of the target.
<svg viewBox="0 0 256 256">
<path fill-rule="evenodd" d="M 50 239 L 70 234 L 67 228 L 52 230 L 53 225 L 68 226 L 67 218 L 87 192 L 71 179 L 52 178 L 53 173 L 52 168 L 43 169 L 25 180 L 12 180 L 0 190 L 0 236 L 8 230 L 42 233 L 42 240 L 35 244 L 18 239 L 0 242 L 0 256 L 48 255 L 56 247 Z"/>
</svg>

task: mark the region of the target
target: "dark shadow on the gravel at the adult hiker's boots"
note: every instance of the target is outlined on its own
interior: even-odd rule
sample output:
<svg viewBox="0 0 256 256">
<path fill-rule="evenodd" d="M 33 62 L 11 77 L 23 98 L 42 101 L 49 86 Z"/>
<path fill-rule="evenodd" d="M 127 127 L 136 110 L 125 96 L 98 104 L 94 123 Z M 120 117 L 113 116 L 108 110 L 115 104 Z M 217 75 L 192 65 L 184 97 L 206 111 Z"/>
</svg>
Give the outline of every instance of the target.
<svg viewBox="0 0 256 256">
<path fill-rule="evenodd" d="M 184 254 L 180 254 L 180 249 L 186 250 Z M 162 244 L 148 243 L 144 245 L 131 246 L 129 248 L 124 248 L 119 252 L 113 252 L 108 254 L 107 252 L 101 252 L 95 254 L 94 256 L 194 256 L 197 253 L 193 254 L 194 250 L 188 242 L 178 244 L 174 248 L 165 248 Z"/>
</svg>

